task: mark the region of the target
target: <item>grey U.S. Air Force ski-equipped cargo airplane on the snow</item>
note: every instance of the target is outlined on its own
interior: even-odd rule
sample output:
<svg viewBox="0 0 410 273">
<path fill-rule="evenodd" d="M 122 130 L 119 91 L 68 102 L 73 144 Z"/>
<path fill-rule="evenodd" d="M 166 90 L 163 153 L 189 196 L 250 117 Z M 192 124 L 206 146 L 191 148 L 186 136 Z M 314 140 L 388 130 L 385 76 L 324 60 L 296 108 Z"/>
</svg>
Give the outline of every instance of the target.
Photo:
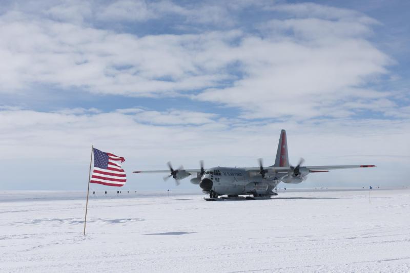
<svg viewBox="0 0 410 273">
<path fill-rule="evenodd" d="M 177 185 L 179 185 L 179 180 L 196 173 L 191 183 L 199 184 L 202 192 L 210 195 L 210 198 L 204 198 L 206 200 L 218 200 L 218 196 L 222 195 L 227 195 L 227 197 L 222 197 L 224 199 L 243 199 L 244 197 L 239 197 L 240 195 L 253 196 L 247 199 L 269 199 L 270 196 L 277 195 L 273 190 L 280 182 L 295 184 L 305 180 L 310 173 L 375 167 L 375 165 L 301 166 L 303 161 L 301 158 L 296 166 L 289 164 L 288 141 L 286 141 L 285 130 L 282 130 L 275 164 L 269 167 L 263 167 L 262 159 L 259 159 L 259 167 L 212 167 L 205 170 L 203 162 L 200 161 L 200 169 L 184 170 L 181 166 L 174 170 L 168 162 L 169 170 L 136 171 L 134 173 L 170 173 L 164 177 L 164 180 L 173 177 Z"/>
</svg>

